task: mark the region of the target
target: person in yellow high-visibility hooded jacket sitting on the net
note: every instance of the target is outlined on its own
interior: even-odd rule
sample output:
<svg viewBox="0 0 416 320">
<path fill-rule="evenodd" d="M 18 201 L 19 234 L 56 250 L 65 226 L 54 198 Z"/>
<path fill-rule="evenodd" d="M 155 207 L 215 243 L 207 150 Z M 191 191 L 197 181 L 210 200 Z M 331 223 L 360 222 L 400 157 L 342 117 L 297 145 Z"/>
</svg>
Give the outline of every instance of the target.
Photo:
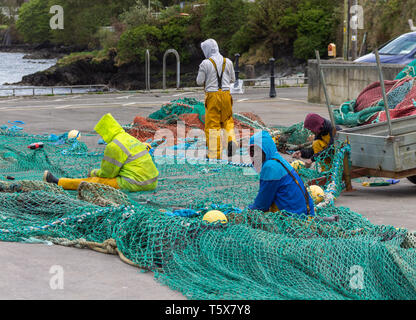
<svg viewBox="0 0 416 320">
<path fill-rule="evenodd" d="M 77 190 L 83 181 L 131 192 L 156 189 L 159 172 L 144 143 L 125 132 L 110 113 L 101 118 L 95 131 L 107 143 L 100 169 L 92 170 L 84 179 L 58 179 L 45 171 L 44 181 L 65 190 Z"/>
</svg>

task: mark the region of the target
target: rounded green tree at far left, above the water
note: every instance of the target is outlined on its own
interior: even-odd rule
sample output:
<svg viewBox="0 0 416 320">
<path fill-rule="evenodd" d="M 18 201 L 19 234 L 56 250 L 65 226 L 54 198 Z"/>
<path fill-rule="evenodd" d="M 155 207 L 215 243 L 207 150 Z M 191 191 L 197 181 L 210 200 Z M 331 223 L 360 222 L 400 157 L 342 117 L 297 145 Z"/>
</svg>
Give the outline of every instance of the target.
<svg viewBox="0 0 416 320">
<path fill-rule="evenodd" d="M 25 42 L 40 43 L 50 38 L 48 2 L 48 0 L 32 0 L 20 7 L 16 28 Z"/>
</svg>

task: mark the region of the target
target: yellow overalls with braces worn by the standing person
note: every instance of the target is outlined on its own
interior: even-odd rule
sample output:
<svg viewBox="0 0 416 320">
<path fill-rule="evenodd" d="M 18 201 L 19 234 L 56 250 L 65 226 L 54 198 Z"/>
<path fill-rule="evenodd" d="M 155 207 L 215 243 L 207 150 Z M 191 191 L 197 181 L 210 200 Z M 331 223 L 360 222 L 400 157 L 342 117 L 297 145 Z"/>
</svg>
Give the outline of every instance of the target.
<svg viewBox="0 0 416 320">
<path fill-rule="evenodd" d="M 236 143 L 233 120 L 233 97 L 230 91 L 222 90 L 222 76 L 225 71 L 226 59 L 222 65 L 221 76 L 215 61 L 209 59 L 217 72 L 218 91 L 205 94 L 205 136 L 209 159 L 221 159 L 221 129 L 225 131 L 227 144 Z"/>
</svg>

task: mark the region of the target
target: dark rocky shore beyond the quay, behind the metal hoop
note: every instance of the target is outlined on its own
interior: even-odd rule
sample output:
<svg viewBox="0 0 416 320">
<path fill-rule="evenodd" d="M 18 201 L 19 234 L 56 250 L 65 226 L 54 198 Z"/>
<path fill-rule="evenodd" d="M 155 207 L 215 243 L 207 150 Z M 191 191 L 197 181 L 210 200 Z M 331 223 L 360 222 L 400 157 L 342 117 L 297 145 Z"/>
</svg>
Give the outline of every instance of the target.
<svg viewBox="0 0 416 320">
<path fill-rule="evenodd" d="M 27 51 L 25 51 L 27 52 Z M 70 53 L 68 48 L 33 48 L 25 56 L 28 59 L 62 58 Z M 145 89 L 145 66 L 140 63 L 128 63 L 118 66 L 116 52 L 109 52 L 104 58 L 96 59 L 92 55 L 80 55 L 69 63 L 58 63 L 41 72 L 24 76 L 22 81 L 13 85 L 26 86 L 69 86 L 69 85 L 107 85 L 118 90 Z M 200 59 L 193 59 L 187 64 L 181 64 L 181 87 L 196 86 L 196 76 Z M 304 65 L 290 66 L 288 61 L 276 66 L 276 76 L 287 76 L 302 72 Z M 241 66 L 240 76 L 245 78 L 265 77 L 270 68 L 264 66 Z M 151 88 L 161 89 L 163 80 L 162 63 L 151 63 Z M 167 86 L 176 87 L 176 62 L 168 59 Z"/>
</svg>

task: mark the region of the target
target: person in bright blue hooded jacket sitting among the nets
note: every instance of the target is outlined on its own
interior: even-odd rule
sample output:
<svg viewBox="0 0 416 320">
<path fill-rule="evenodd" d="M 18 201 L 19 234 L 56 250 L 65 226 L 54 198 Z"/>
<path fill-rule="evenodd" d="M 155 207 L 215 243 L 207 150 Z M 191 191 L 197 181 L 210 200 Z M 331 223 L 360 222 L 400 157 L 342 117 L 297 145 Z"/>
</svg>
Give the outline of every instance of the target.
<svg viewBox="0 0 416 320">
<path fill-rule="evenodd" d="M 315 216 L 313 200 L 302 179 L 279 154 L 268 132 L 261 131 L 251 137 L 250 156 L 260 173 L 260 190 L 249 209 Z"/>
</svg>

